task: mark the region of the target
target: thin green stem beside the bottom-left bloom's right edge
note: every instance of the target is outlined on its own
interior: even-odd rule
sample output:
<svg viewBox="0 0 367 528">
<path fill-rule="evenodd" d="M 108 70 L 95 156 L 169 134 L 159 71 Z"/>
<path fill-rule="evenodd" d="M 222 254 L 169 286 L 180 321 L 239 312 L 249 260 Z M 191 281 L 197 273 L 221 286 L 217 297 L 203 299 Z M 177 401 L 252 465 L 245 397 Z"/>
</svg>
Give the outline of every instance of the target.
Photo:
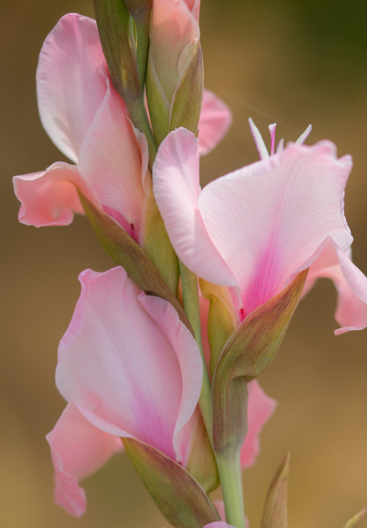
<svg viewBox="0 0 367 528">
<path fill-rule="evenodd" d="M 201 394 L 199 399 L 199 407 L 204 420 L 206 431 L 211 444 L 213 444 L 212 432 L 212 414 L 211 414 L 211 383 L 206 368 L 203 346 L 201 342 L 201 323 L 200 323 L 200 308 L 199 308 L 199 291 L 197 289 L 197 277 L 192 271 L 178 260 L 180 264 L 182 294 L 184 301 L 184 310 L 187 318 L 193 328 L 197 346 L 199 346 L 200 354 L 203 360 L 203 383 L 201 386 Z"/>
</svg>

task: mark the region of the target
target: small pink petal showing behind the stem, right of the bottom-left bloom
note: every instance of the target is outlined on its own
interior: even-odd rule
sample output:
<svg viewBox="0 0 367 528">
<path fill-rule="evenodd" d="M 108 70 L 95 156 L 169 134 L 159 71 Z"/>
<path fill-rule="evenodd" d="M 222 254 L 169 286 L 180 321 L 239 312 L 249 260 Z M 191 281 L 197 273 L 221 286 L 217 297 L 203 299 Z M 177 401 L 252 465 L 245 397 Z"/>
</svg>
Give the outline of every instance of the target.
<svg viewBox="0 0 367 528">
<path fill-rule="evenodd" d="M 241 468 L 255 464 L 260 452 L 260 432 L 277 406 L 276 400 L 269 398 L 261 389 L 257 380 L 248 384 L 248 431 L 240 453 Z"/>
</svg>

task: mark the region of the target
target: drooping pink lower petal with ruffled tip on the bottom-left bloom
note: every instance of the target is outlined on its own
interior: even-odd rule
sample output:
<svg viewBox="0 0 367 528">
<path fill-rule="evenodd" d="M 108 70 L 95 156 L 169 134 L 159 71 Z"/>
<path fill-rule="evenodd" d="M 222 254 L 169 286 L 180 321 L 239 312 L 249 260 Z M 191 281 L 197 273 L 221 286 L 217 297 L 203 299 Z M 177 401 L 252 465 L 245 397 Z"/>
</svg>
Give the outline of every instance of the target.
<svg viewBox="0 0 367 528">
<path fill-rule="evenodd" d="M 86 510 L 84 489 L 78 480 L 103 466 L 123 448 L 121 439 L 90 425 L 70 402 L 46 436 L 55 468 L 55 502 L 76 517 Z"/>
</svg>

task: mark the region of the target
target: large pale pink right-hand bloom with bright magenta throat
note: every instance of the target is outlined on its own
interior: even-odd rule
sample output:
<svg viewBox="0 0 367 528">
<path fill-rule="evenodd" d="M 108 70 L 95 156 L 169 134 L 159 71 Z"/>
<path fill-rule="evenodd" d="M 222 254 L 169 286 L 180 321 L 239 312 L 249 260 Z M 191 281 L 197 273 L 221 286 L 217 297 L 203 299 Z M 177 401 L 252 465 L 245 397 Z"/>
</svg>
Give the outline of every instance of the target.
<svg viewBox="0 0 367 528">
<path fill-rule="evenodd" d="M 201 191 L 198 142 L 180 128 L 159 147 L 154 195 L 178 257 L 229 288 L 238 322 L 309 268 L 306 290 L 318 277 L 334 280 L 342 333 L 367 326 L 367 278 L 350 259 L 343 210 L 351 168 L 327 140 L 280 145 Z"/>
</svg>

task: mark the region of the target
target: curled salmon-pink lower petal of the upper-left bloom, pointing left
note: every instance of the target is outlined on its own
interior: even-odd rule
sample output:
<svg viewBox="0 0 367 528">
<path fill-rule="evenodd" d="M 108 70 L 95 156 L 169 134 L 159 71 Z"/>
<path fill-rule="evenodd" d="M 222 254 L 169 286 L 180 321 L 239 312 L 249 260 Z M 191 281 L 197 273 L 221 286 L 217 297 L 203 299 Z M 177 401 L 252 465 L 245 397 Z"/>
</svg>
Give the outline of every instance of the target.
<svg viewBox="0 0 367 528">
<path fill-rule="evenodd" d="M 14 192 L 22 203 L 19 221 L 26 225 L 68 225 L 74 213 L 84 214 L 77 187 L 97 206 L 98 197 L 78 167 L 58 162 L 43 172 L 14 176 Z"/>
</svg>

